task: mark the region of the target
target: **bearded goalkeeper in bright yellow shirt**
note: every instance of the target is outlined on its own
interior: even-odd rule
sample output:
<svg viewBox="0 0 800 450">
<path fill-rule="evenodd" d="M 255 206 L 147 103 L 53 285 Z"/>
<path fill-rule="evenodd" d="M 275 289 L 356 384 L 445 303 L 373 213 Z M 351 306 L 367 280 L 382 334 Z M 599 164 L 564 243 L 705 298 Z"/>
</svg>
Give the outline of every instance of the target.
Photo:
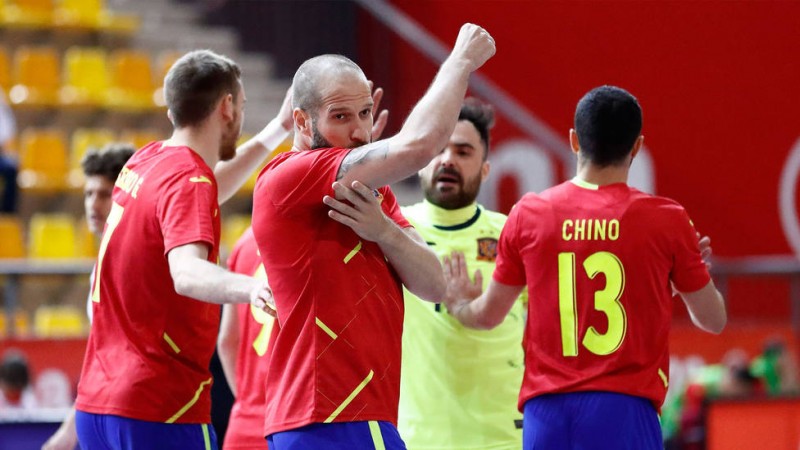
<svg viewBox="0 0 800 450">
<path fill-rule="evenodd" d="M 420 171 L 425 200 L 402 208 L 439 257 L 461 251 L 491 278 L 506 216 L 476 202 L 489 174 L 491 106 L 467 99 L 445 149 Z M 484 288 L 486 286 L 484 285 Z M 463 327 L 443 304 L 405 291 L 398 429 L 409 450 L 522 447 L 523 291 L 502 325 Z"/>
</svg>

